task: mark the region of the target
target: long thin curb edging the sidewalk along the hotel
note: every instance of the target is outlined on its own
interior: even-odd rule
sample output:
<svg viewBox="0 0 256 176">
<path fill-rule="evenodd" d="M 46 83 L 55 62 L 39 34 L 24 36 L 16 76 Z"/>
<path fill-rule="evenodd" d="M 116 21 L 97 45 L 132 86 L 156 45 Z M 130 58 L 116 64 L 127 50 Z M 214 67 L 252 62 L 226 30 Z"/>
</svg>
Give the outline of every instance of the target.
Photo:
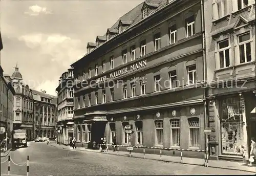
<svg viewBox="0 0 256 176">
<path fill-rule="evenodd" d="M 51 145 L 53 146 L 53 145 Z M 53 146 L 53 147 L 57 147 L 57 146 Z M 58 147 L 57 147 L 58 148 Z M 60 148 L 60 147 L 59 147 Z M 62 149 L 65 149 L 65 150 L 71 150 L 71 151 L 75 151 L 75 150 L 72 150 L 72 149 L 68 149 L 68 148 L 64 148 L 64 147 L 61 147 Z M 102 153 L 102 152 L 98 152 L 98 151 L 93 151 L 93 150 L 81 150 L 81 149 L 76 149 L 78 151 L 89 151 L 89 152 L 95 152 L 95 153 Z M 114 155 L 114 156 L 122 156 L 122 157 L 129 157 L 129 154 L 127 155 L 116 155 L 114 153 L 102 153 L 102 154 L 105 154 L 105 155 Z M 143 159 L 141 157 L 136 157 L 136 156 L 132 156 L 131 155 L 131 158 L 140 158 L 140 159 Z M 155 161 L 160 161 L 158 159 L 153 159 L 153 158 L 145 158 L 145 159 L 148 159 L 148 160 L 155 160 Z M 162 160 L 161 162 L 165 162 L 165 163 L 179 163 L 181 164 L 181 162 L 175 162 L 175 161 L 166 161 L 166 160 Z M 182 163 L 182 164 L 188 164 L 188 165 L 195 165 L 195 166 L 204 166 L 204 164 L 192 164 L 192 163 Z M 211 168 L 219 168 L 219 169 L 227 169 L 227 170 L 239 170 L 239 171 L 244 171 L 244 172 L 251 172 L 251 173 L 255 173 L 254 171 L 250 171 L 250 170 L 244 170 L 244 169 L 236 169 L 236 168 L 226 168 L 226 167 L 218 167 L 218 166 L 208 166 L 208 167 L 211 167 Z"/>
</svg>

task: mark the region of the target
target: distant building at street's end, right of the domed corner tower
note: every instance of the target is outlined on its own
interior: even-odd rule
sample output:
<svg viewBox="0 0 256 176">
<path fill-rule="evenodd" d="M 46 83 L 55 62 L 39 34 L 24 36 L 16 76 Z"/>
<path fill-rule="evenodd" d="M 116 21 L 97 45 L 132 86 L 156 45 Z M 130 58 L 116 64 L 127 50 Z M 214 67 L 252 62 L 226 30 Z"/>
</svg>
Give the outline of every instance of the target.
<svg viewBox="0 0 256 176">
<path fill-rule="evenodd" d="M 34 99 L 34 137 L 55 138 L 57 97 L 32 90 Z"/>
</svg>

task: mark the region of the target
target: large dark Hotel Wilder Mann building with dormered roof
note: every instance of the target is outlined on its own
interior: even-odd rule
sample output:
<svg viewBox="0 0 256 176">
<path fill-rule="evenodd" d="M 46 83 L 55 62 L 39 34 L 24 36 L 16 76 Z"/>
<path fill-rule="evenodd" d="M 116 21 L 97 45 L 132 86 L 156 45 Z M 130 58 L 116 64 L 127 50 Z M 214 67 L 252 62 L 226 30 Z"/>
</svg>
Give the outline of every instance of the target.
<svg viewBox="0 0 256 176">
<path fill-rule="evenodd" d="M 131 145 L 204 150 L 202 25 L 201 1 L 145 1 L 88 43 L 71 65 L 77 144 L 127 145 L 132 124 Z"/>
</svg>

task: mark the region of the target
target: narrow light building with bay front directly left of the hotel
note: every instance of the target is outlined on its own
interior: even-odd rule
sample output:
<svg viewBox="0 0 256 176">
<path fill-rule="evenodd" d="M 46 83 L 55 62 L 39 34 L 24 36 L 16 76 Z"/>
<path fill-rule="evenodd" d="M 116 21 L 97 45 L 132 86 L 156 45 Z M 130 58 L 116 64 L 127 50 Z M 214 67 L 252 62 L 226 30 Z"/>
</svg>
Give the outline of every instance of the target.
<svg viewBox="0 0 256 176">
<path fill-rule="evenodd" d="M 68 69 L 68 72 L 62 73 L 59 78 L 59 85 L 56 88 L 58 93 L 57 101 L 57 140 L 61 144 L 68 145 L 70 137 L 73 138 L 74 121 L 74 76 L 73 68 Z"/>
</svg>

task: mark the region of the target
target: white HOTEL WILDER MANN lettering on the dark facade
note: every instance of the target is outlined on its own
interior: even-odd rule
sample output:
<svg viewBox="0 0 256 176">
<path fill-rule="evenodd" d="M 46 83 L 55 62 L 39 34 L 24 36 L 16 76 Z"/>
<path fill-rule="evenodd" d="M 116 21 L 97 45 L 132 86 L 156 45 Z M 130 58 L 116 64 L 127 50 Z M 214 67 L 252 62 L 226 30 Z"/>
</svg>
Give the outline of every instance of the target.
<svg viewBox="0 0 256 176">
<path fill-rule="evenodd" d="M 110 73 L 109 75 L 105 75 L 105 76 L 102 76 L 100 78 L 97 78 L 95 80 L 95 82 L 96 82 L 96 84 L 101 83 L 101 82 L 104 82 L 108 79 L 113 79 L 113 78 L 119 77 L 121 75 L 125 75 L 129 72 L 131 73 L 131 72 L 136 71 L 136 70 L 138 70 L 140 68 L 143 68 L 145 66 L 146 66 L 146 59 L 142 60 L 140 62 L 134 63 L 134 64 L 130 65 L 130 67 L 125 67 L 123 69 L 120 69 L 120 70 L 117 70 L 113 73 Z"/>
</svg>

